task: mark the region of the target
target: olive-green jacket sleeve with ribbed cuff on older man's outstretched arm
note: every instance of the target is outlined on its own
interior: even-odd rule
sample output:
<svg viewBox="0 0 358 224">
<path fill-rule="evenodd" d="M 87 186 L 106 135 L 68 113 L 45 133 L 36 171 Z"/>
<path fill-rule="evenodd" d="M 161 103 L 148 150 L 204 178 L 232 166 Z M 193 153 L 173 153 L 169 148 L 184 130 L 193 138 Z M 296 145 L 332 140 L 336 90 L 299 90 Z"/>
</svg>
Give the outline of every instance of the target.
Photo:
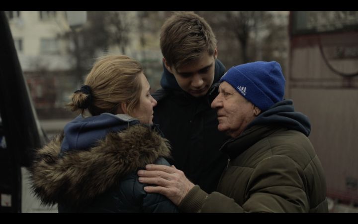
<svg viewBox="0 0 358 224">
<path fill-rule="evenodd" d="M 309 212 L 305 183 L 302 168 L 291 158 L 271 156 L 258 164 L 249 183 L 245 186 L 237 183 L 237 188 L 246 188 L 242 206 L 219 192 L 207 194 L 196 185 L 182 200 L 179 210 L 191 213 Z M 235 189 L 232 195 L 235 197 Z"/>
</svg>

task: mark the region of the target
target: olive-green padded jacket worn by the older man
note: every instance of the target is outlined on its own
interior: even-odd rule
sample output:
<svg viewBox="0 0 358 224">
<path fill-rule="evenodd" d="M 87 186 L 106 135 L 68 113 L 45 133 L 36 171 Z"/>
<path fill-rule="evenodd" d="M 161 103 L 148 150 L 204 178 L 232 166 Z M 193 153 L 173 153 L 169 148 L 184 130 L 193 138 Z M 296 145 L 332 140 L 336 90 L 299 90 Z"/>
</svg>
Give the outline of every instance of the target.
<svg viewBox="0 0 358 224">
<path fill-rule="evenodd" d="M 196 185 L 179 209 L 202 213 L 327 213 L 326 179 L 312 144 L 299 128 L 277 124 L 276 120 L 275 124 L 252 125 L 226 142 L 221 150 L 231 161 L 217 192 L 207 194 Z"/>
</svg>

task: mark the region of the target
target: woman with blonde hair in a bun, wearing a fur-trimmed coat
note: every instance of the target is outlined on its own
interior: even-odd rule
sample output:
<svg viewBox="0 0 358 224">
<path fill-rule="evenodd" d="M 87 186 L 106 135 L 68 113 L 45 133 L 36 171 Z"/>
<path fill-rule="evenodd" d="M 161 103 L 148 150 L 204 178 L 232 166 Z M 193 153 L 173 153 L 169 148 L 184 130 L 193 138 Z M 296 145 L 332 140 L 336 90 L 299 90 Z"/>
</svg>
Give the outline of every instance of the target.
<svg viewBox="0 0 358 224">
<path fill-rule="evenodd" d="M 136 174 L 146 164 L 170 165 L 169 143 L 152 123 L 157 101 L 139 62 L 104 56 L 68 104 L 80 112 L 63 133 L 35 153 L 32 189 L 62 212 L 178 212 L 147 194 Z M 89 116 L 85 113 L 89 112 Z"/>
</svg>

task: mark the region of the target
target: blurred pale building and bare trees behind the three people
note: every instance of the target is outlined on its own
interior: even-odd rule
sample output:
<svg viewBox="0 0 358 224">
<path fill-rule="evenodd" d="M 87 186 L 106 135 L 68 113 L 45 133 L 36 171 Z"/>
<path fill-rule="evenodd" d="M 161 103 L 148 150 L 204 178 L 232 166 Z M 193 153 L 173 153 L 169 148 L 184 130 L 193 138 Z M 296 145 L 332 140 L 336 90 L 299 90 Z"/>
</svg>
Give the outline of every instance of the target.
<svg viewBox="0 0 358 224">
<path fill-rule="evenodd" d="M 227 68 L 254 60 L 276 60 L 286 69 L 287 11 L 197 13 L 217 35 L 218 58 Z M 171 14 L 88 11 L 88 21 L 71 28 L 65 11 L 6 11 L 39 118 L 71 117 L 64 108 L 68 97 L 82 85 L 94 59 L 107 53 L 139 60 L 152 91 L 159 89 L 162 74 L 159 33 Z"/>
</svg>

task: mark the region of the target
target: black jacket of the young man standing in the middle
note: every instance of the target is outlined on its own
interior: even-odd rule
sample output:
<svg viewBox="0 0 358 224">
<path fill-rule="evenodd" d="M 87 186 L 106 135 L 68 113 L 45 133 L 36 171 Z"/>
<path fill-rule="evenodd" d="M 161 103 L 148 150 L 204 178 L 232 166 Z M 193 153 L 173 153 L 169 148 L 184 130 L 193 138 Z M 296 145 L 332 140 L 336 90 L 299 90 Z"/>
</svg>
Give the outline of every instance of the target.
<svg viewBox="0 0 358 224">
<path fill-rule="evenodd" d="M 184 92 L 174 75 L 163 68 L 162 89 L 153 94 L 158 101 L 153 122 L 171 143 L 174 160 L 170 162 L 206 192 L 215 191 L 227 165 L 227 156 L 219 149 L 229 137 L 218 131 L 217 114 L 210 104 L 218 95 L 217 82 L 226 68 L 215 60 L 214 84 L 199 98 Z"/>
</svg>

